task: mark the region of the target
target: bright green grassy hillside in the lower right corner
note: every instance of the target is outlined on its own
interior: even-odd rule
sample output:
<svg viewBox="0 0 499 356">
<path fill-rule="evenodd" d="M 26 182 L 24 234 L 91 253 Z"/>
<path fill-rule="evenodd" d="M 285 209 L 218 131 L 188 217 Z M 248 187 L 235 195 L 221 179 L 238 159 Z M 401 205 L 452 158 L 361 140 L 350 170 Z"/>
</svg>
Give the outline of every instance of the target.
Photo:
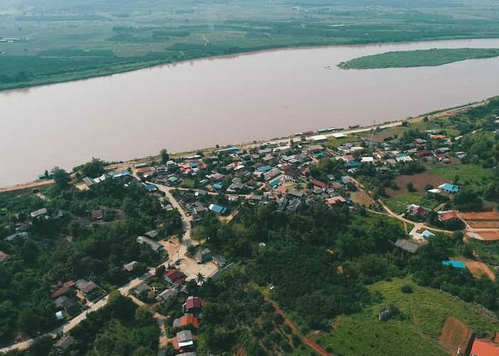
<svg viewBox="0 0 499 356">
<path fill-rule="evenodd" d="M 413 293 L 402 293 L 404 284 L 410 285 Z M 488 335 L 499 330 L 497 318 L 488 310 L 416 286 L 409 278 L 382 281 L 370 289 L 381 293 L 384 300 L 362 313 L 337 318 L 330 333 L 317 335 L 326 350 L 336 355 L 446 355 L 438 335 L 448 315 Z M 406 318 L 379 321 L 377 312 L 386 303 L 394 303 Z"/>
</svg>

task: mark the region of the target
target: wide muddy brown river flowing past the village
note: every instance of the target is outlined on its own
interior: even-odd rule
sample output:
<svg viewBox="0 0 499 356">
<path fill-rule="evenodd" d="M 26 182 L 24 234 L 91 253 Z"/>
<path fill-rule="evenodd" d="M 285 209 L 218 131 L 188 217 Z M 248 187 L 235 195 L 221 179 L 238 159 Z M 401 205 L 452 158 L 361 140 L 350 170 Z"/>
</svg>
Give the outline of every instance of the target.
<svg viewBox="0 0 499 356">
<path fill-rule="evenodd" d="M 282 49 L 0 93 L 0 186 L 108 161 L 371 125 L 499 94 L 499 58 L 341 70 L 386 51 L 499 48 L 499 39 Z M 326 69 L 331 66 L 331 69 Z"/>
</svg>

